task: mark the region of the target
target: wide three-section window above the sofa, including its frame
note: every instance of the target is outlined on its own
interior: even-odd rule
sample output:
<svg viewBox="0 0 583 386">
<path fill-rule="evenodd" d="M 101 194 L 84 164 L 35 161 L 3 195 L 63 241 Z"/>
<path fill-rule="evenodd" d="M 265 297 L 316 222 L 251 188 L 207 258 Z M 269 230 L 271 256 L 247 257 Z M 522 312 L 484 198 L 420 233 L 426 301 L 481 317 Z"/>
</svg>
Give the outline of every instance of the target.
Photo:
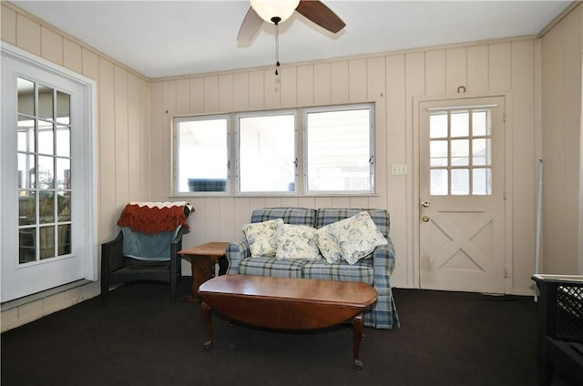
<svg viewBox="0 0 583 386">
<path fill-rule="evenodd" d="M 177 117 L 175 192 L 371 194 L 373 122 L 373 104 Z"/>
</svg>

